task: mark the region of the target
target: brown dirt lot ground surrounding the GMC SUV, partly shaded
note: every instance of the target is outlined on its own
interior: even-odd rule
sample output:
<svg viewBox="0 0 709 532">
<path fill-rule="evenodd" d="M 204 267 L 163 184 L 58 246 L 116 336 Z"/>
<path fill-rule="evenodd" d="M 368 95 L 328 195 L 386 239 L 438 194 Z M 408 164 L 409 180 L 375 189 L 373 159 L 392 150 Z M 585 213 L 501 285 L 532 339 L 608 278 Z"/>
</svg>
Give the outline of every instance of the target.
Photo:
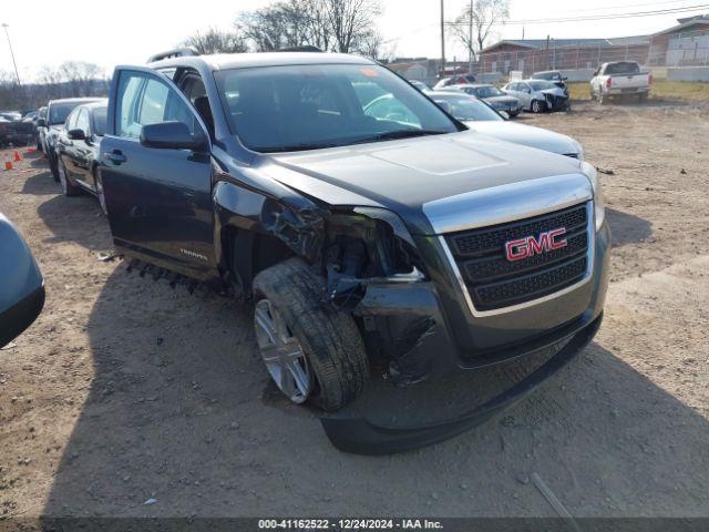
<svg viewBox="0 0 709 532">
<path fill-rule="evenodd" d="M 273 393 L 249 309 L 97 260 L 106 219 L 43 160 L 0 173 L 48 293 L 0 351 L 0 515 L 555 515 L 536 475 L 573 515 L 709 515 L 709 106 L 522 121 L 613 171 L 603 328 L 502 417 L 383 458 Z"/>
</svg>

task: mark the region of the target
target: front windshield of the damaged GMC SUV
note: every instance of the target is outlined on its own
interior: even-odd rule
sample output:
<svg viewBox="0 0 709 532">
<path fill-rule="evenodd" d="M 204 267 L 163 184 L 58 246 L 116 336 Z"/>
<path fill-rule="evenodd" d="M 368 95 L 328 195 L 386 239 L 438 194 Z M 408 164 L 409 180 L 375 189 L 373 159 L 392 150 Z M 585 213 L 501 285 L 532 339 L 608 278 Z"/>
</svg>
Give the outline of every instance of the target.
<svg viewBox="0 0 709 532">
<path fill-rule="evenodd" d="M 257 152 L 458 131 L 418 90 L 373 64 L 234 69 L 215 78 L 233 133 Z"/>
</svg>

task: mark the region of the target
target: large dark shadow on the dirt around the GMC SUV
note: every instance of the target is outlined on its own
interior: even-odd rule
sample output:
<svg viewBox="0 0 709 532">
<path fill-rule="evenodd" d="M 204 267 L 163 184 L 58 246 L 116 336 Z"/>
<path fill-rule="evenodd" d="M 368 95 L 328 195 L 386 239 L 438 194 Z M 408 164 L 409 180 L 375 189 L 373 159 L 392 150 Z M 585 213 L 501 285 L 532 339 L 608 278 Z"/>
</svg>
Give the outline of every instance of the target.
<svg viewBox="0 0 709 532">
<path fill-rule="evenodd" d="M 64 238 L 83 238 L 75 225 Z M 690 515 L 709 423 L 592 344 L 528 399 L 436 446 L 336 450 L 274 393 L 249 308 L 117 265 L 86 321 L 93 379 L 44 507 L 61 515 Z M 473 377 L 471 377 L 473 379 Z M 471 380 L 472 382 L 472 380 Z M 442 388 L 442 392 L 444 388 Z M 58 457 L 59 458 L 59 457 Z"/>
</svg>

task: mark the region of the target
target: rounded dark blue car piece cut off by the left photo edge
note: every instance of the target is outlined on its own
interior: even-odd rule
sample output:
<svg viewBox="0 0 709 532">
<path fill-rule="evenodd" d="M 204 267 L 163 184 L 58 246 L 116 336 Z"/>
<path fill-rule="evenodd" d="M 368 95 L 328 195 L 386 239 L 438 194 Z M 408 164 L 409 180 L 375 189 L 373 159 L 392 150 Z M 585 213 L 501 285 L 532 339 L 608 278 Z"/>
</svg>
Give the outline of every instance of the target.
<svg viewBox="0 0 709 532">
<path fill-rule="evenodd" d="M 27 329 L 44 306 L 44 279 L 32 252 L 0 214 L 0 347 Z"/>
</svg>

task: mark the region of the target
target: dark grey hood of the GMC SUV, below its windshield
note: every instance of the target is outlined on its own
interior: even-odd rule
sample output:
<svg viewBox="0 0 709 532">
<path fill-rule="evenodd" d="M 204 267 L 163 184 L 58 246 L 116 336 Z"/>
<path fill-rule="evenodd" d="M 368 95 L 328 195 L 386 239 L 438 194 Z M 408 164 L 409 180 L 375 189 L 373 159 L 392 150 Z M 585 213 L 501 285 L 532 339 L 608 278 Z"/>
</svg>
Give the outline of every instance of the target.
<svg viewBox="0 0 709 532">
<path fill-rule="evenodd" d="M 579 173 L 578 161 L 473 131 L 264 155 L 267 176 L 329 205 L 384 207 L 431 234 L 424 203 L 493 186 Z"/>
</svg>

